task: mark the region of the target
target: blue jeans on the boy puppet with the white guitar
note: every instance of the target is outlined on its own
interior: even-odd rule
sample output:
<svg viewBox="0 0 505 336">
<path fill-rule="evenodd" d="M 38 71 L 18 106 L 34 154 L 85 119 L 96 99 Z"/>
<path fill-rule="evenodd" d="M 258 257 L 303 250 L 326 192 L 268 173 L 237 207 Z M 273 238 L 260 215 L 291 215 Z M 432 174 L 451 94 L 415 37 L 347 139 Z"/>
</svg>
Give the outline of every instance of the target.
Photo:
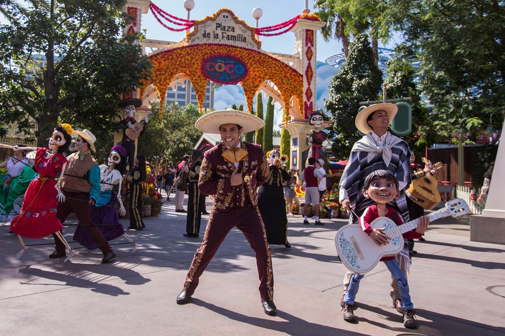
<svg viewBox="0 0 505 336">
<path fill-rule="evenodd" d="M 401 299 L 401 309 L 409 310 L 414 308 L 414 304 L 411 301 L 409 294 L 409 284 L 407 283 L 407 279 L 403 276 L 403 273 L 400 270 L 400 266 L 395 259 L 384 261 L 387 269 L 391 272 L 391 275 L 398 282 L 398 288 L 400 290 L 400 299 Z M 352 305 L 354 304 L 354 300 L 356 299 L 356 294 L 358 294 L 358 289 L 360 288 L 360 281 L 364 277 L 364 274 L 354 274 L 352 278 L 350 278 L 349 288 L 347 288 L 347 294 L 345 294 L 344 302 Z"/>
</svg>

